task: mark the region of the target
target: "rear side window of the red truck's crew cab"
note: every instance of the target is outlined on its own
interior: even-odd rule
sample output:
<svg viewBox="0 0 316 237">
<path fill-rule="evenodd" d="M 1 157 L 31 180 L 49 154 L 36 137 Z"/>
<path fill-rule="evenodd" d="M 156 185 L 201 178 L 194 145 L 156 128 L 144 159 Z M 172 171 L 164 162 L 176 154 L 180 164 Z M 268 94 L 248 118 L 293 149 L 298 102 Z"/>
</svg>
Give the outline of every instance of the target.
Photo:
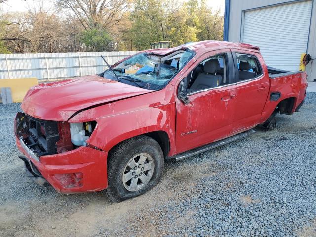
<svg viewBox="0 0 316 237">
<path fill-rule="evenodd" d="M 262 74 L 262 69 L 256 56 L 236 53 L 236 59 L 240 81 L 253 79 Z"/>
</svg>

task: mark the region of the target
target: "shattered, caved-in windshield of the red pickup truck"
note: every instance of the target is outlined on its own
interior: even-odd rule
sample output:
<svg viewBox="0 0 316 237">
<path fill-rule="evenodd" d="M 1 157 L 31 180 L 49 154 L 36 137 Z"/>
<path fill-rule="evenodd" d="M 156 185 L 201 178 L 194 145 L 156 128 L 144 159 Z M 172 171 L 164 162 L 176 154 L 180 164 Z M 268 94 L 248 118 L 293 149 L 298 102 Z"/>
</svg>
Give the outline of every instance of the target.
<svg viewBox="0 0 316 237">
<path fill-rule="evenodd" d="M 139 53 L 106 70 L 104 78 L 149 90 L 164 88 L 193 58 L 194 51 L 178 50 L 169 55 Z"/>
</svg>

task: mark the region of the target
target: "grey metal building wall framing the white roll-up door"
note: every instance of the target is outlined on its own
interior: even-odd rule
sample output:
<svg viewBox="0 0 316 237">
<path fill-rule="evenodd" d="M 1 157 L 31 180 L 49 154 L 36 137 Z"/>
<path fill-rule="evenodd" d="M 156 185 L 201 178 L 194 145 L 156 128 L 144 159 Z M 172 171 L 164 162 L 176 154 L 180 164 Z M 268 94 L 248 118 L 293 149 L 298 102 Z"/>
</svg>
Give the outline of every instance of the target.
<svg viewBox="0 0 316 237">
<path fill-rule="evenodd" d="M 302 0 L 304 1 L 304 0 Z M 239 42 L 242 40 L 242 19 L 244 12 L 250 9 L 259 7 L 273 7 L 277 4 L 286 4 L 299 2 L 297 0 L 230 0 L 230 18 L 229 18 L 229 31 L 228 41 Z M 307 23 L 308 24 L 308 23 Z M 274 29 L 271 29 L 273 31 Z M 264 37 L 264 36 L 263 36 Z M 310 22 L 310 34 L 307 53 L 311 54 L 312 58 L 316 58 L 316 0 L 313 0 L 313 10 Z M 260 45 L 257 45 L 260 47 Z M 302 52 L 303 53 L 303 52 Z M 282 55 L 280 55 L 281 57 Z M 297 66 L 299 67 L 299 65 Z M 313 81 L 316 79 L 316 66 L 310 64 L 307 66 L 308 79 Z"/>
</svg>

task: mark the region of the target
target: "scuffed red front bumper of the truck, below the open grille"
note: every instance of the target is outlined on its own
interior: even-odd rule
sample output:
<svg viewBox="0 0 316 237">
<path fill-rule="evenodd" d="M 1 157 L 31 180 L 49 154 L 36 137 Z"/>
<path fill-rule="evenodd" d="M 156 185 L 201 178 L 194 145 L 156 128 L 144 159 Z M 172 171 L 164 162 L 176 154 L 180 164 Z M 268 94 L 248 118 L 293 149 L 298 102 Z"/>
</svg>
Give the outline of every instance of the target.
<svg viewBox="0 0 316 237">
<path fill-rule="evenodd" d="M 21 144 L 22 143 L 22 144 Z M 34 157 L 16 137 L 19 150 L 40 174 L 61 193 L 100 191 L 108 186 L 108 153 L 90 147 L 79 147 L 69 152 Z"/>
</svg>

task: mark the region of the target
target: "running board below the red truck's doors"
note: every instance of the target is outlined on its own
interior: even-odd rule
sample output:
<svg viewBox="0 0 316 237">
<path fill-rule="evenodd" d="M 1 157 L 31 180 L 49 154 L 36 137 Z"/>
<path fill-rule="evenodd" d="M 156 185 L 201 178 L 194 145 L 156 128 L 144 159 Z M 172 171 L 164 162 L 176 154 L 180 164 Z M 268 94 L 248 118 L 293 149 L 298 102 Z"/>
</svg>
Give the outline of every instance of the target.
<svg viewBox="0 0 316 237">
<path fill-rule="evenodd" d="M 225 139 L 219 140 L 217 142 L 212 142 L 212 143 L 209 143 L 209 144 L 197 147 L 197 148 L 193 148 L 193 149 L 191 149 L 189 151 L 180 153 L 180 154 L 174 156 L 173 158 L 176 161 L 179 161 L 179 160 L 182 160 L 182 159 L 185 159 L 185 158 L 197 155 L 199 153 L 206 152 L 206 151 L 211 150 L 213 148 L 216 148 L 216 147 L 219 147 L 219 146 L 223 146 L 223 145 L 225 145 L 227 143 L 234 142 L 234 141 L 236 141 L 236 140 L 238 140 L 240 138 L 247 137 L 248 135 L 250 135 L 252 133 L 255 133 L 255 132 L 256 132 L 255 130 L 251 129 L 251 130 L 248 130 L 248 131 L 236 134 L 234 136 L 227 137 Z"/>
</svg>

